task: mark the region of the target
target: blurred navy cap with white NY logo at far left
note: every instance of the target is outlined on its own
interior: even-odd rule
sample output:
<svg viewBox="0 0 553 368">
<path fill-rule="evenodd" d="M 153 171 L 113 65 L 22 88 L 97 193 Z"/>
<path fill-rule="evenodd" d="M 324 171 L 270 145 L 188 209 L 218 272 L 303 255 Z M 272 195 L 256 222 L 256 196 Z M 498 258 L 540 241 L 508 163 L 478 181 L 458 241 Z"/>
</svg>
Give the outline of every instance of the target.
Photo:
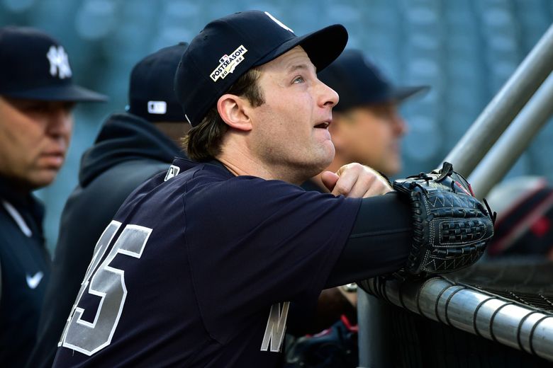
<svg viewBox="0 0 553 368">
<path fill-rule="evenodd" d="M 33 28 L 0 28 L 0 96 L 48 101 L 105 101 L 77 86 L 62 45 Z"/>
</svg>

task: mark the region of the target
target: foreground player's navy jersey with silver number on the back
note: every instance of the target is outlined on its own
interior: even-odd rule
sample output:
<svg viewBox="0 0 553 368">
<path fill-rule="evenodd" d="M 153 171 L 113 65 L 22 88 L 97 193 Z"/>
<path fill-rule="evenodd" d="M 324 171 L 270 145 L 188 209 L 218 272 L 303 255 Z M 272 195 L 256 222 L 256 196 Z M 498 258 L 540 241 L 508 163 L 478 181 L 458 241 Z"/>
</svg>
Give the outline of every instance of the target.
<svg viewBox="0 0 553 368">
<path fill-rule="evenodd" d="M 96 246 L 54 367 L 279 367 L 289 302 L 313 304 L 360 199 L 174 161 Z"/>
</svg>

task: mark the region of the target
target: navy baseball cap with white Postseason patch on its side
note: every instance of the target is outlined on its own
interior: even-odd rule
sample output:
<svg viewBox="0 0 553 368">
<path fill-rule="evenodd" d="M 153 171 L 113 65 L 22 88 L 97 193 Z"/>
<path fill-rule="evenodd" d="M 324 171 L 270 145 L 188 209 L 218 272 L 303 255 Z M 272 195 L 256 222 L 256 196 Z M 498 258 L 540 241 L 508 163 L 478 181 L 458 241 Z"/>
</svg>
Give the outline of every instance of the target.
<svg viewBox="0 0 553 368">
<path fill-rule="evenodd" d="M 343 25 L 330 25 L 298 37 L 267 12 L 234 13 L 208 23 L 190 42 L 175 76 L 177 99 L 186 120 L 196 126 L 218 98 L 252 67 L 300 45 L 315 67 L 322 70 L 346 43 Z"/>
</svg>

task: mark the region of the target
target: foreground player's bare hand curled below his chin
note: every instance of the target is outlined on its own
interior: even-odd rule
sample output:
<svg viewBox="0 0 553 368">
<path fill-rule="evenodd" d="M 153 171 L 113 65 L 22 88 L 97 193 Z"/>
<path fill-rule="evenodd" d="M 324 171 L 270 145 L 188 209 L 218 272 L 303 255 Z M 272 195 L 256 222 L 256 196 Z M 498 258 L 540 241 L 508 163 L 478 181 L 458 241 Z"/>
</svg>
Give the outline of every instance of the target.
<svg viewBox="0 0 553 368">
<path fill-rule="evenodd" d="M 360 163 L 348 163 L 336 173 L 325 171 L 320 178 L 333 195 L 364 198 L 393 191 L 388 180 L 369 166 Z"/>
</svg>

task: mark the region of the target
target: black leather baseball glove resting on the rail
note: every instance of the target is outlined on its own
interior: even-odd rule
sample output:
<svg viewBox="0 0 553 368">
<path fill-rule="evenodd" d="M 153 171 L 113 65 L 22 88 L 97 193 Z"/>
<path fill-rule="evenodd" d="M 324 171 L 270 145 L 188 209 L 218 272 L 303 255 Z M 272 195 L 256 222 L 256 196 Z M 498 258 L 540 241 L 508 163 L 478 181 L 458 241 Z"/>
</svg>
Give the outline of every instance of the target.
<svg viewBox="0 0 553 368">
<path fill-rule="evenodd" d="M 413 218 L 413 245 L 396 276 L 452 272 L 479 260 L 493 236 L 495 214 L 451 163 L 396 180 L 393 188 L 409 202 Z"/>
</svg>

